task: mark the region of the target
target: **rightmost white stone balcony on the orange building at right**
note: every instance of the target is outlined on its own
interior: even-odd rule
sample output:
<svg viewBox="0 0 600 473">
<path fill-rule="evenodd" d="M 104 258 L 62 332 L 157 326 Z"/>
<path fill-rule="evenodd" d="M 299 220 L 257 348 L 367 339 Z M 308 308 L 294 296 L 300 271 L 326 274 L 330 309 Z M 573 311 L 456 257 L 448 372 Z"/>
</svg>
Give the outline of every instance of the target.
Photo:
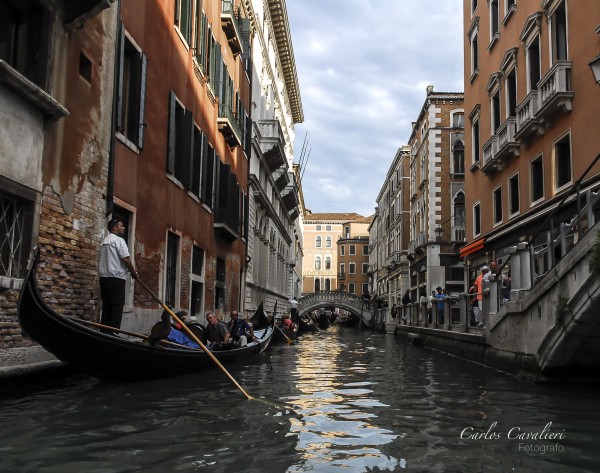
<svg viewBox="0 0 600 473">
<path fill-rule="evenodd" d="M 539 82 L 540 109 L 538 117 L 543 123 L 563 112 L 570 112 L 573 106 L 571 90 L 571 61 L 557 61 Z"/>
</svg>

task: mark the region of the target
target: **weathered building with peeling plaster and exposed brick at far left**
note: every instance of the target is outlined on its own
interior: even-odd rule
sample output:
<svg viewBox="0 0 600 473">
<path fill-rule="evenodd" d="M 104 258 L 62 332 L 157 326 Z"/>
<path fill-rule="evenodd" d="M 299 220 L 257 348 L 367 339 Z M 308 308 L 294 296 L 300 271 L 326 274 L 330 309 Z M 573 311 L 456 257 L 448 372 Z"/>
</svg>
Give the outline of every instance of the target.
<svg viewBox="0 0 600 473">
<path fill-rule="evenodd" d="M 87 319 L 98 313 L 117 24 L 110 3 L 0 1 L 0 370 L 47 358 L 17 318 L 34 247 L 48 304 Z"/>
</svg>

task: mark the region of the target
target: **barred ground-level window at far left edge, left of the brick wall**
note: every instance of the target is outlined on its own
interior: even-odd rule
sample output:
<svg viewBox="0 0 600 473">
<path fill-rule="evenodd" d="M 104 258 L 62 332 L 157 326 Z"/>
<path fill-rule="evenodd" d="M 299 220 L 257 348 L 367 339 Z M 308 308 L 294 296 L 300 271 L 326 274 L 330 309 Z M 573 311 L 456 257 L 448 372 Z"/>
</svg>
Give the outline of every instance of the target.
<svg viewBox="0 0 600 473">
<path fill-rule="evenodd" d="M 0 177 L 0 189 L 16 184 Z M 35 198 L 33 192 L 29 197 Z M 31 248 L 33 200 L 0 190 L 0 276 L 23 278 Z"/>
</svg>

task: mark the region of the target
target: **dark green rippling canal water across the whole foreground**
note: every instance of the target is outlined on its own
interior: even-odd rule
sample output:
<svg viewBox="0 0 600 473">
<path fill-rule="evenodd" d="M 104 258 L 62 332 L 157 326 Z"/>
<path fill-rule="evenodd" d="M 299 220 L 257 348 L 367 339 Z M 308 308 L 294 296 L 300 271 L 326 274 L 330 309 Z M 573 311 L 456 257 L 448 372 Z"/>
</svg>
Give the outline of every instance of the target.
<svg viewBox="0 0 600 473">
<path fill-rule="evenodd" d="M 118 369 L 118 367 L 116 367 Z M 597 472 L 600 389 L 333 327 L 231 370 L 0 399 L 0 471 Z"/>
</svg>

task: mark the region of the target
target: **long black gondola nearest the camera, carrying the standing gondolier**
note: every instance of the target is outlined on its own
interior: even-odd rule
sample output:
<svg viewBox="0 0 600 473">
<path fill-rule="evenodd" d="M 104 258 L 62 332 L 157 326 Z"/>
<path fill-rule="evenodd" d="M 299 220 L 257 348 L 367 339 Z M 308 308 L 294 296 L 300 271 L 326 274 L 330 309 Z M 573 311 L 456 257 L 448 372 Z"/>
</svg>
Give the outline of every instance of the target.
<svg viewBox="0 0 600 473">
<path fill-rule="evenodd" d="M 62 362 L 100 379 L 138 381 L 160 379 L 216 368 L 203 350 L 174 344 L 151 345 L 142 339 L 102 333 L 77 319 L 61 315 L 42 300 L 35 282 L 36 252 L 19 296 L 19 323 L 24 333 Z M 259 355 L 268 346 L 273 322 L 255 330 L 256 340 L 245 347 L 215 350 L 223 365 Z"/>
</svg>

